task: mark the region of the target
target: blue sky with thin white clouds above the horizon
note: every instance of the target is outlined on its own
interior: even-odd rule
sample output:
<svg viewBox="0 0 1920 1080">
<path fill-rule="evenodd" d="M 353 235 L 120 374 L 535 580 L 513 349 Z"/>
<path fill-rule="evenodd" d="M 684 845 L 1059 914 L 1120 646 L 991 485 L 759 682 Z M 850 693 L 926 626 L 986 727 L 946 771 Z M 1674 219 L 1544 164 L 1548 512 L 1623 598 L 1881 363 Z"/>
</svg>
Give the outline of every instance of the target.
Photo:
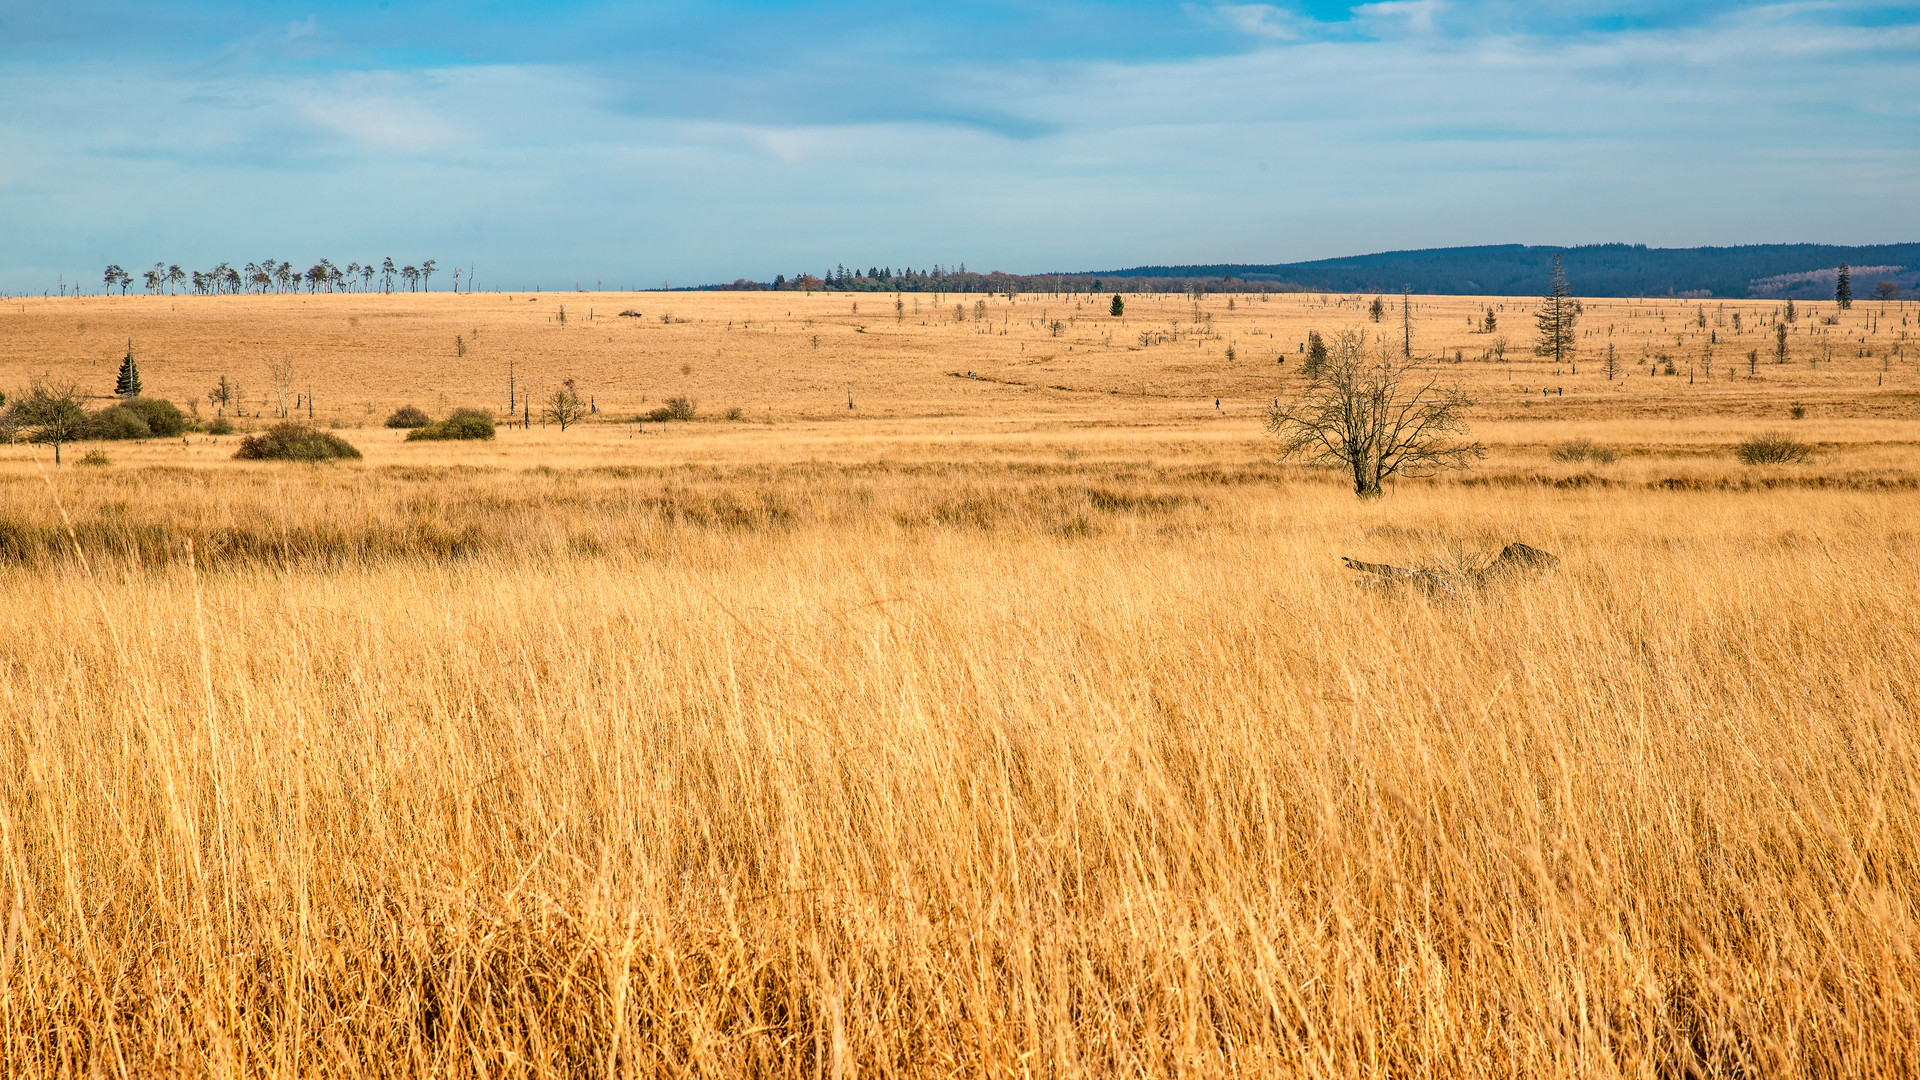
<svg viewBox="0 0 1920 1080">
<path fill-rule="evenodd" d="M 0 106 L 10 292 L 1920 240 L 1920 4 L 0 0 Z"/>
</svg>

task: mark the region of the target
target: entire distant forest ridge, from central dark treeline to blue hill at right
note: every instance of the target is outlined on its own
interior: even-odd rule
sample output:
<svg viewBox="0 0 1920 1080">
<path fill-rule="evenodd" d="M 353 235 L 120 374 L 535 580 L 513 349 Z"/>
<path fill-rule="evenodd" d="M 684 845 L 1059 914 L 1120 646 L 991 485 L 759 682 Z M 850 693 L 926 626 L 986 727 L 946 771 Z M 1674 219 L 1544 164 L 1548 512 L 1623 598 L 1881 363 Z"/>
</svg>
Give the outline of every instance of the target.
<svg viewBox="0 0 1920 1080">
<path fill-rule="evenodd" d="M 1749 244 L 1741 248 L 1647 248 L 1590 244 L 1546 248 L 1490 244 L 1379 252 L 1306 263 L 1215 263 L 1077 273 L 979 273 L 958 267 L 833 267 L 824 275 L 739 279 L 708 290 L 808 292 L 1400 292 L 1442 296 L 1538 296 L 1561 256 L 1576 296 L 1684 296 L 1820 300 L 1834 296 L 1841 263 L 1853 294 L 1920 292 L 1920 244 Z M 1882 282 L 1887 282 L 1882 286 Z"/>
</svg>

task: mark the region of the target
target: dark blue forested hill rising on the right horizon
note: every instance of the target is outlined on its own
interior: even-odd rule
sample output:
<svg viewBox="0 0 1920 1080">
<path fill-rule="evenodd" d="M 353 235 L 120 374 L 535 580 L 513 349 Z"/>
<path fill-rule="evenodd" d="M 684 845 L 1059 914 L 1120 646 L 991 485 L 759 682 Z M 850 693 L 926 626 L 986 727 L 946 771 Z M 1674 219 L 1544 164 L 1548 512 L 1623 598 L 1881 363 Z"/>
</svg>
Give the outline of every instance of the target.
<svg viewBox="0 0 1920 1080">
<path fill-rule="evenodd" d="M 1853 294 L 1874 296 L 1893 281 L 1903 296 L 1920 286 L 1920 244 L 1751 244 L 1743 248 L 1428 248 L 1277 265 L 1187 265 L 1104 271 L 1102 279 L 1236 279 L 1331 292 L 1534 296 L 1546 292 L 1553 256 L 1563 256 L 1578 296 L 1795 296 L 1834 294 L 1834 269 L 1853 267 Z M 1075 275 L 1077 277 L 1077 275 Z M 1091 275 L 1089 275 L 1091 277 Z"/>
</svg>

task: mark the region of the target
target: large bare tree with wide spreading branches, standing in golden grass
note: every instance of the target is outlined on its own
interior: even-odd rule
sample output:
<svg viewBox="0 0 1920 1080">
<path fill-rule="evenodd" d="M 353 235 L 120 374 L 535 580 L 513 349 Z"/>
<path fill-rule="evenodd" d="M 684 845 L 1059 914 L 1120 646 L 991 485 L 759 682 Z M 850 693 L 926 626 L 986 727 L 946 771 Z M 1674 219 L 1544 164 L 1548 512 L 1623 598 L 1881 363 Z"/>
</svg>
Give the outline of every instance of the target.
<svg viewBox="0 0 1920 1080">
<path fill-rule="evenodd" d="M 1332 461 L 1354 479 L 1354 494 L 1375 498 L 1390 477 L 1463 469 L 1486 454 L 1465 434 L 1469 402 L 1423 365 L 1396 357 L 1386 338 L 1369 356 L 1367 334 L 1342 331 L 1327 361 L 1296 402 L 1267 411 L 1267 432 L 1283 457 Z"/>
</svg>

